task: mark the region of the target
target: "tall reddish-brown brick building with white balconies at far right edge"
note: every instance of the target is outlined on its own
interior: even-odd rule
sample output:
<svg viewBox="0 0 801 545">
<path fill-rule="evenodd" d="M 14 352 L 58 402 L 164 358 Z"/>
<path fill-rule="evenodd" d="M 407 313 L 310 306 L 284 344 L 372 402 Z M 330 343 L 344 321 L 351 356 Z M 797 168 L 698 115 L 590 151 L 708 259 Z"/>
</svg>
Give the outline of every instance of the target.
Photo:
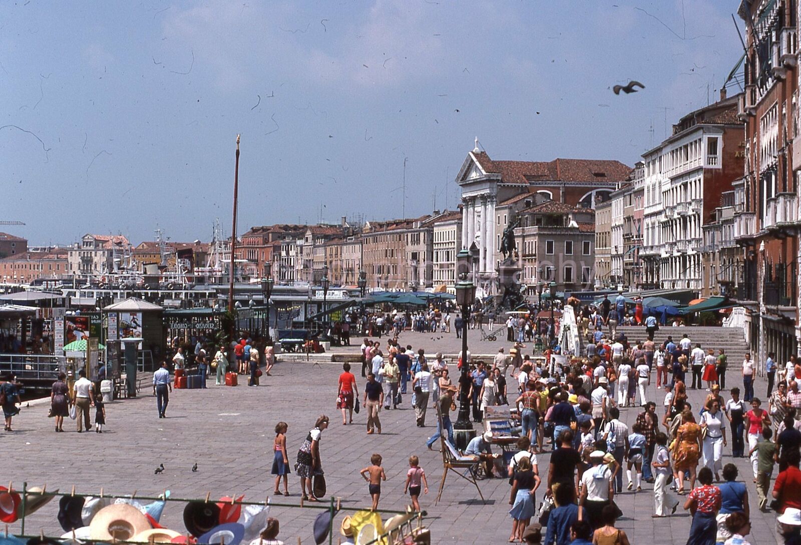
<svg viewBox="0 0 801 545">
<path fill-rule="evenodd" d="M 755 360 L 768 352 L 784 362 L 801 346 L 799 325 L 799 52 L 796 0 L 740 3 L 747 22 L 744 210 L 735 222 L 743 246 L 743 283 L 737 299 L 747 308 Z"/>
</svg>

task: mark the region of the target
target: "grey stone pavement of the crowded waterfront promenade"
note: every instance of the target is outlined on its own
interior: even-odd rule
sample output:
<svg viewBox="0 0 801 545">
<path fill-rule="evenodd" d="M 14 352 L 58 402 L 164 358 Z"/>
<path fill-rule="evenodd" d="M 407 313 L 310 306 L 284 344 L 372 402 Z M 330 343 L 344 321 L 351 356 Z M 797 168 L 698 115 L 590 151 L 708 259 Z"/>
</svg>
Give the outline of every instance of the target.
<svg viewBox="0 0 801 545">
<path fill-rule="evenodd" d="M 430 337 L 430 335 L 429 335 Z M 455 336 L 453 336 L 455 339 Z M 407 335 L 404 343 L 413 343 Z M 430 341 L 430 339 L 429 339 Z M 444 344 L 444 343 L 443 343 Z M 493 343 L 495 344 L 495 343 Z M 498 343 L 499 344 L 499 343 Z M 498 346 L 495 344 L 495 346 Z M 428 351 L 441 345 L 427 343 Z M 450 350 L 442 348 L 443 350 Z M 9 481 L 14 487 L 46 483 L 49 490 L 69 491 L 72 485 L 78 493 L 157 495 L 170 489 L 175 497 L 211 498 L 221 495 L 241 495 L 260 501 L 273 490 L 272 439 L 273 428 L 280 420 L 289 424 L 288 450 L 294 463 L 300 443 L 314 424 L 317 415 L 331 418 L 331 427 L 324 431 L 320 444 L 323 467 L 328 480 L 329 494 L 343 498 L 346 507 L 369 506 L 367 486 L 358 471 L 369 465 L 373 452 L 384 456 L 388 481 L 382 487 L 380 507 L 402 508 L 408 501 L 403 495 L 409 455 L 420 456 L 421 467 L 429 479 L 429 494 L 421 497 L 428 511 L 433 531 L 433 543 L 506 543 L 509 519 L 509 485 L 505 479 L 480 482 L 487 502 L 482 504 L 473 486 L 449 476 L 443 499 L 433 502 L 441 479 L 441 455 L 425 448 L 425 439 L 433 432 L 433 411 L 429 411 L 429 427 L 417 428 L 405 396 L 403 409 L 382 411 L 382 435 L 366 435 L 364 411 L 356 415 L 353 426 L 341 424 L 335 409 L 338 364 L 280 363 L 274 376 L 262 378 L 263 386 L 215 387 L 213 380 L 207 391 L 181 390 L 171 395 L 167 419 L 158 419 L 155 398 L 142 391 L 137 399 L 127 399 L 107 405 L 107 431 L 78 435 L 74 421 L 65 423 L 69 433 L 56 434 L 53 421 L 46 418 L 47 405 L 23 407 L 14 419 L 13 433 L 0 435 L 0 483 Z M 354 369 L 354 371 L 357 371 Z M 358 377 L 359 387 L 363 381 Z M 738 383 L 730 378 L 730 386 Z M 764 395 L 765 383 L 756 384 L 758 395 Z M 652 385 L 650 395 L 657 396 L 659 407 L 662 393 Z M 725 392 L 724 392 L 725 394 Z M 690 391 L 690 401 L 698 407 L 705 391 Z M 626 423 L 634 423 L 637 409 L 623 411 Z M 731 443 L 730 443 L 731 444 Z M 725 449 L 724 463 L 732 461 L 731 449 Z M 191 472 L 197 462 L 199 471 Z M 166 470 L 154 475 L 155 467 L 163 463 Z M 756 494 L 751 483 L 747 459 L 735 460 L 748 485 L 753 521 L 752 543 L 776 543 L 774 515 L 760 514 L 756 509 Z M 539 470 L 545 482 L 548 456 L 539 456 Z M 775 476 L 775 475 L 774 475 Z M 298 479 L 291 475 L 289 498 L 277 502 L 299 503 Z M 537 504 L 544 487 L 537 492 Z M 638 493 L 624 492 L 618 496 L 624 518 L 619 527 L 629 535 L 631 543 L 685 543 L 690 527 L 684 511 L 668 519 L 650 518 L 653 512 L 651 485 Z M 42 508 L 26 521 L 26 533 L 56 533 L 57 503 Z M 164 511 L 166 527 L 183 530 L 183 505 L 171 503 Z M 280 538 L 287 543 L 312 543 L 312 521 L 318 511 L 274 507 L 272 514 L 280 519 Z M 338 517 L 341 520 L 341 516 Z M 18 531 L 19 523 L 10 525 Z M 60 533 L 60 532 L 59 532 Z M 334 543 L 337 541 L 335 536 Z"/>
</svg>

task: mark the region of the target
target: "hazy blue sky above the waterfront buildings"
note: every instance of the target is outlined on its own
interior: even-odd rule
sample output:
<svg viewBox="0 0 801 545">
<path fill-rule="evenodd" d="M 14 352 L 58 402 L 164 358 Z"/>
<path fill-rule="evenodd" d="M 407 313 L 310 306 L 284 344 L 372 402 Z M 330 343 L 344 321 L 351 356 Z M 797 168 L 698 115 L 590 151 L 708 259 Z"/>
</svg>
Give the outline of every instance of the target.
<svg viewBox="0 0 801 545">
<path fill-rule="evenodd" d="M 2 229 L 208 240 L 219 218 L 230 233 L 237 133 L 239 233 L 453 209 L 476 136 L 496 159 L 634 165 L 666 119 L 718 96 L 742 54 L 736 9 L 2 2 L 0 220 L 27 223 Z M 630 79 L 646 89 L 610 90 Z"/>
</svg>

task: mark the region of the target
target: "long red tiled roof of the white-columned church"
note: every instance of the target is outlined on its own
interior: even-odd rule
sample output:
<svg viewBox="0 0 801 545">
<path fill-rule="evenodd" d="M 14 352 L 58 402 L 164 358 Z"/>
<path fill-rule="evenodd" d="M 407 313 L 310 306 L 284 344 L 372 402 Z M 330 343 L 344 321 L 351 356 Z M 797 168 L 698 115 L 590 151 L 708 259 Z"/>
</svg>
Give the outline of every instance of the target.
<svg viewBox="0 0 801 545">
<path fill-rule="evenodd" d="M 493 161 L 485 151 L 474 151 L 481 168 L 487 174 L 501 174 L 504 183 L 537 181 L 559 182 L 621 182 L 631 167 L 606 159 L 553 159 L 540 161 Z"/>
</svg>

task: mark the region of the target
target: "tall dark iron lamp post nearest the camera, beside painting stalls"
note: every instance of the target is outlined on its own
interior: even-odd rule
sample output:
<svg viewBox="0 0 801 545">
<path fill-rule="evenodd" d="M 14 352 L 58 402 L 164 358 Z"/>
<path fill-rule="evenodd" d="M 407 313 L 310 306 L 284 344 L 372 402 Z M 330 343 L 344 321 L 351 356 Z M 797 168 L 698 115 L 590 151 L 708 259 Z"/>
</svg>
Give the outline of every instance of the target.
<svg viewBox="0 0 801 545">
<path fill-rule="evenodd" d="M 467 397 L 470 383 L 470 370 L 467 361 L 467 317 L 470 315 L 470 305 L 476 298 L 476 287 L 469 276 L 471 255 L 469 250 L 461 250 L 456 257 L 457 277 L 456 302 L 461 307 L 461 378 L 459 379 L 459 415 L 456 425 L 453 426 L 454 442 L 457 447 L 465 448 L 470 439 L 476 435 L 473 424 L 470 423 L 469 399 Z M 445 433 L 445 430 L 443 430 Z"/>
</svg>

